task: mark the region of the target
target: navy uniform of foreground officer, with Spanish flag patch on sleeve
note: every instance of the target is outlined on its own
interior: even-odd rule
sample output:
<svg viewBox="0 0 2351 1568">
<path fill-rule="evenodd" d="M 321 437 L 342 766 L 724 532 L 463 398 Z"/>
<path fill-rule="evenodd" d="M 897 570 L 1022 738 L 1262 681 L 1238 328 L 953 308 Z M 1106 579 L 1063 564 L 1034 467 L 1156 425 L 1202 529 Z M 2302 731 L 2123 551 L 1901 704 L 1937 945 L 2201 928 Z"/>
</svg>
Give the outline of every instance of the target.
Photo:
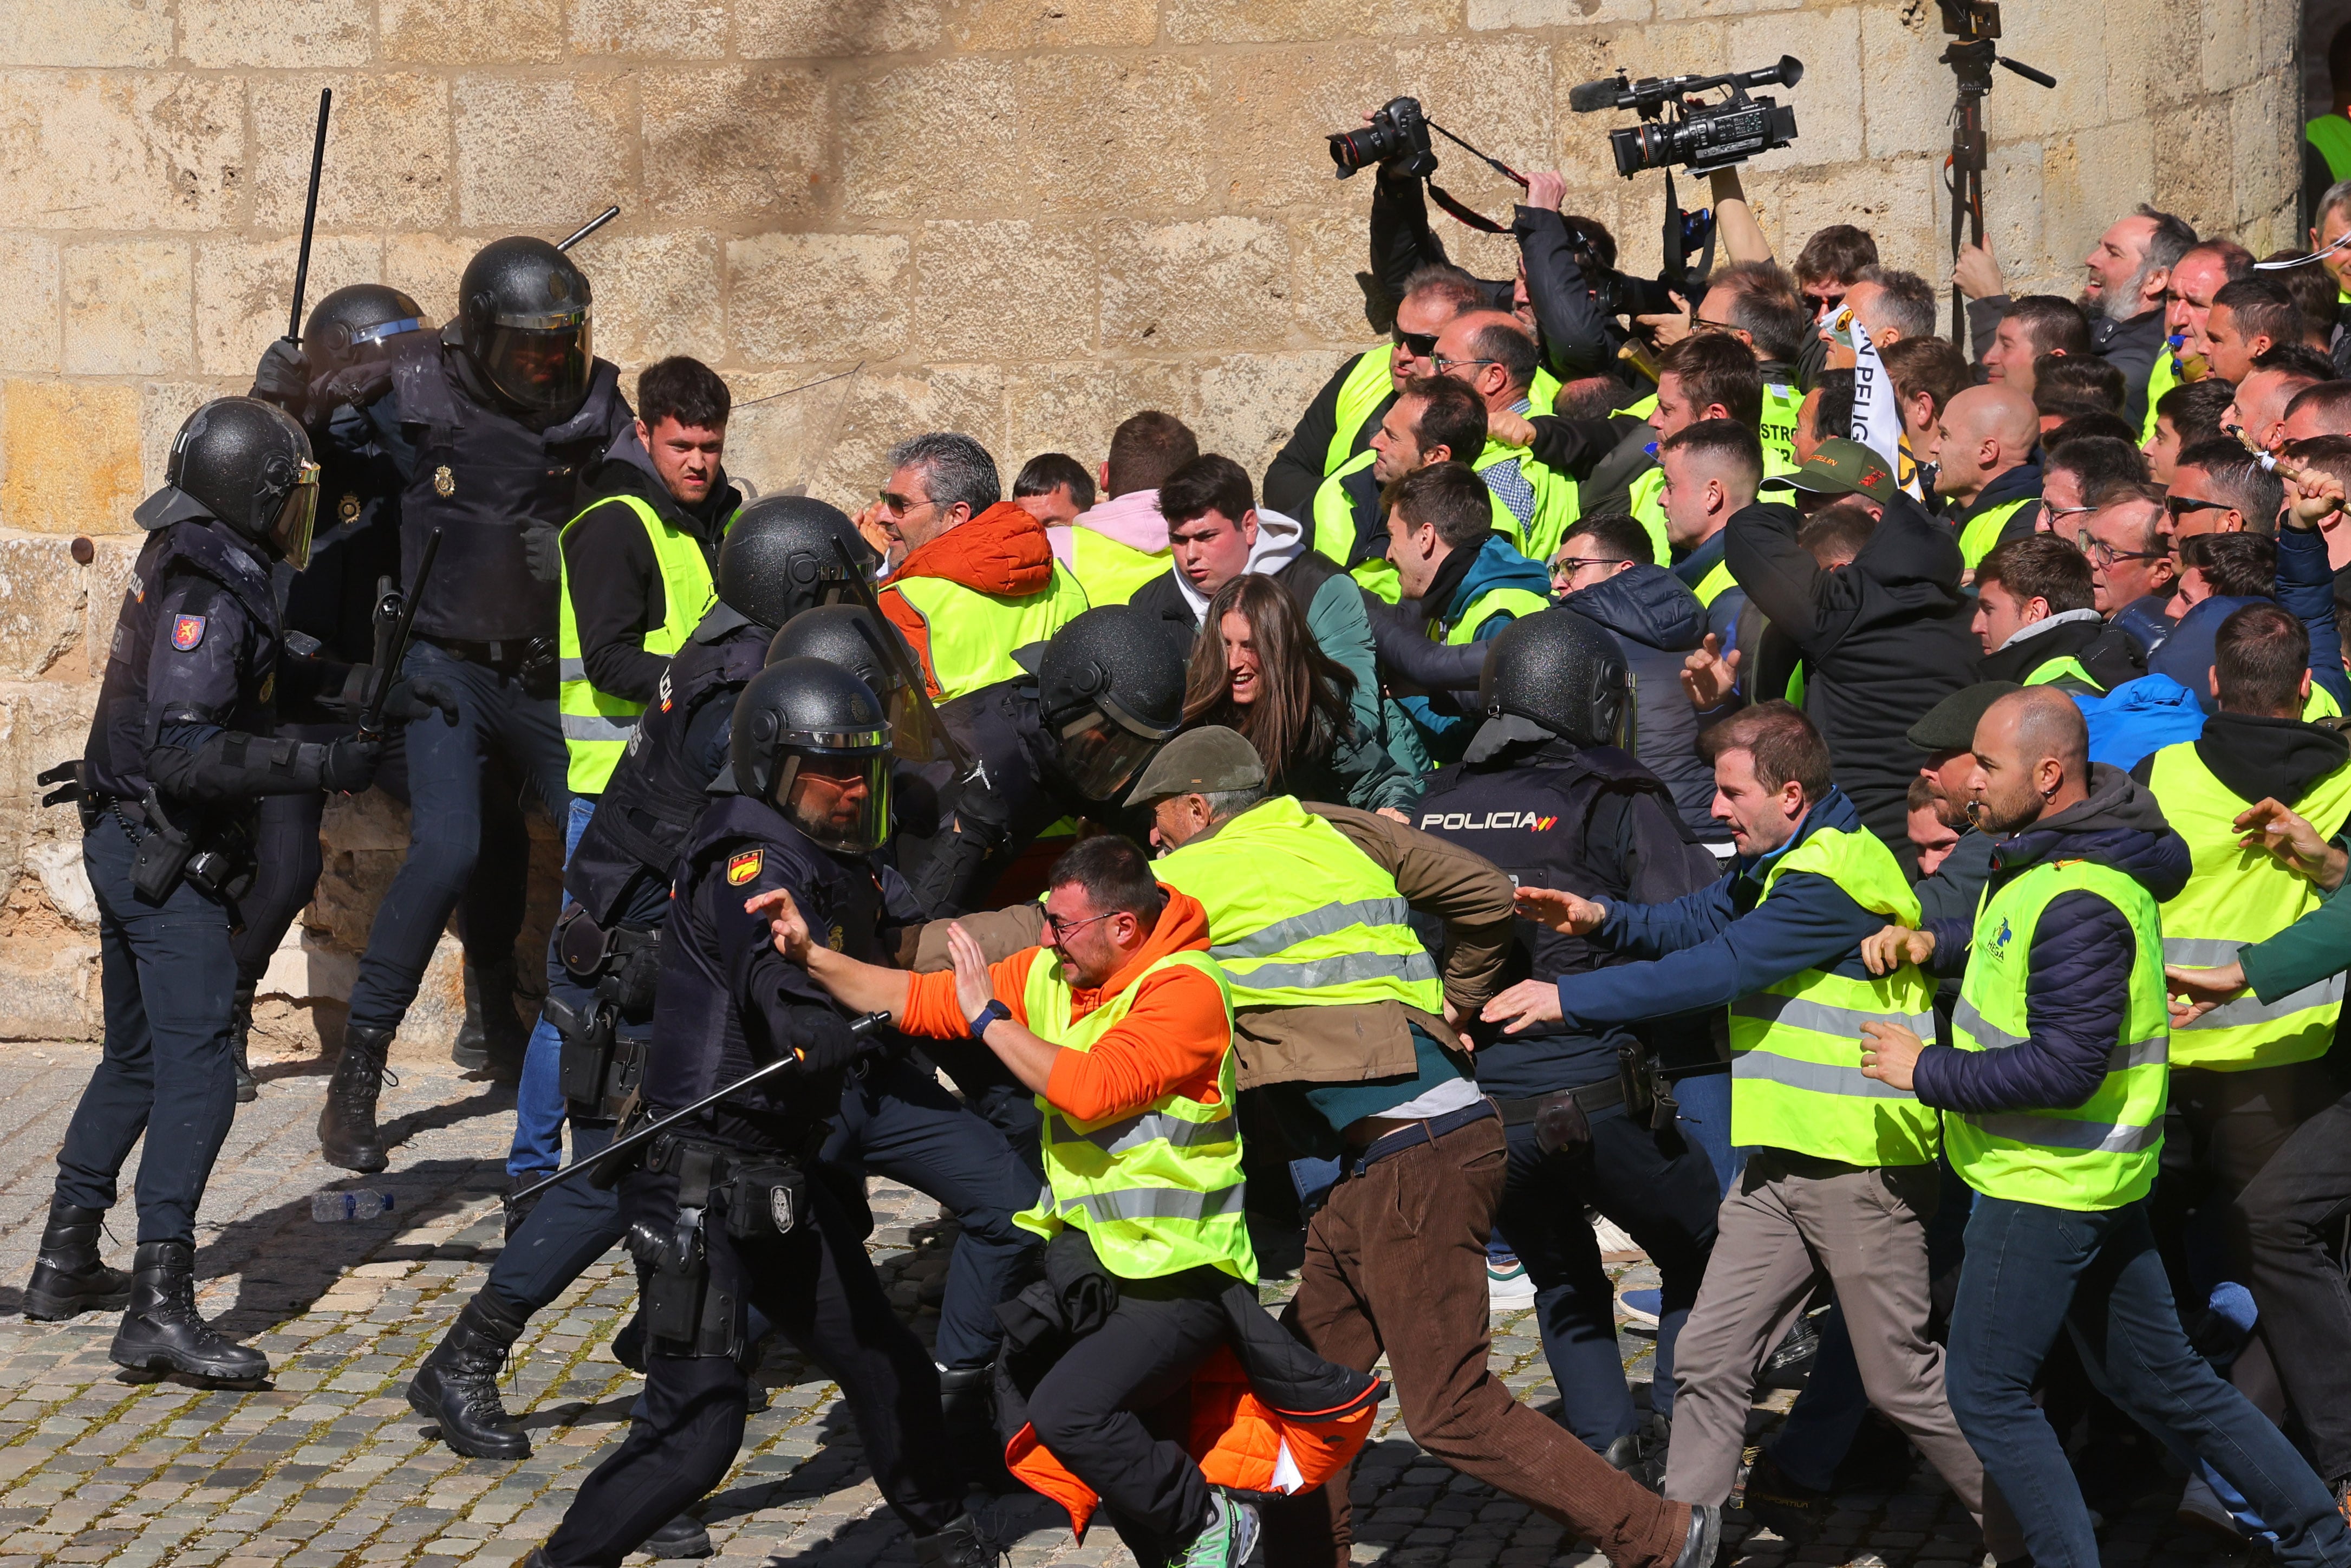
<svg viewBox="0 0 2351 1568">
<path fill-rule="evenodd" d="M 689 1105 L 792 1051 L 811 1030 L 846 1030 L 806 971 L 776 952 L 766 919 L 743 912 L 745 898 L 790 889 L 820 940 L 872 961 L 884 952 L 882 884 L 872 863 L 818 851 L 773 806 L 748 797 L 715 804 L 684 851 L 663 929 L 647 1105 Z M 809 1157 L 837 1105 L 832 1077 L 783 1072 L 705 1112 L 694 1133 L 705 1147 L 729 1159 L 799 1159 L 809 1218 L 783 1237 L 736 1239 L 724 1190 L 708 1194 L 701 1246 L 710 1276 L 698 1335 L 647 1338 L 644 1396 L 628 1441 L 581 1483 L 548 1537 L 548 1559 L 560 1568 L 621 1563 L 734 1465 L 745 1413 L 736 1356 L 750 1309 L 839 1380 L 875 1483 L 917 1535 L 959 1514 L 938 1371 L 891 1309 L 837 1175 Z M 675 1234 L 689 1180 L 696 1175 L 684 1157 L 623 1178 L 632 1232 Z"/>
</svg>

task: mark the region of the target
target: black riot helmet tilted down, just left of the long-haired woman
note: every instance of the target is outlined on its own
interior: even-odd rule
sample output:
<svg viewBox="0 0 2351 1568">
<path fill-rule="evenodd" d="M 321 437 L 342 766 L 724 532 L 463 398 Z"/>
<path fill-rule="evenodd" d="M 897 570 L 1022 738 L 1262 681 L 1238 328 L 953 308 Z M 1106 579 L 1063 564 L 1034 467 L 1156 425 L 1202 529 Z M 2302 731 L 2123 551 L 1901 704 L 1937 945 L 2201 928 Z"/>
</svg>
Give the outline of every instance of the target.
<svg viewBox="0 0 2351 1568">
<path fill-rule="evenodd" d="M 1154 616 L 1103 604 L 1044 644 L 1037 705 L 1060 776 L 1117 799 L 1183 726 L 1183 658 Z"/>
</svg>

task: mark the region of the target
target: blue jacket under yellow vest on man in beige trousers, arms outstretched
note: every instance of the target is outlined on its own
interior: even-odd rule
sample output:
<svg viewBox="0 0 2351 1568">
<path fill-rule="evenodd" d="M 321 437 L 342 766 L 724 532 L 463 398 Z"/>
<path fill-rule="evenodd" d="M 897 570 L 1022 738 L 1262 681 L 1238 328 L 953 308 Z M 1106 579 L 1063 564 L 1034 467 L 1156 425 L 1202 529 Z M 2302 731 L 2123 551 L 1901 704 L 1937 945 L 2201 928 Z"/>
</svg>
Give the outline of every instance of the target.
<svg viewBox="0 0 2351 1568">
<path fill-rule="evenodd" d="M 1740 856 L 1723 877 L 1674 903 L 1613 903 L 1592 933 L 1601 947 L 1648 959 L 1559 980 L 1559 1011 L 1570 1027 L 1639 1023 L 1667 1013 L 1730 1006 L 1803 969 L 1867 980 L 1862 938 L 1886 926 L 1817 872 L 1763 879 L 1773 863 L 1822 827 L 1857 832 L 1860 811 L 1831 788 L 1796 823 L 1794 837 L 1768 856 Z"/>
</svg>

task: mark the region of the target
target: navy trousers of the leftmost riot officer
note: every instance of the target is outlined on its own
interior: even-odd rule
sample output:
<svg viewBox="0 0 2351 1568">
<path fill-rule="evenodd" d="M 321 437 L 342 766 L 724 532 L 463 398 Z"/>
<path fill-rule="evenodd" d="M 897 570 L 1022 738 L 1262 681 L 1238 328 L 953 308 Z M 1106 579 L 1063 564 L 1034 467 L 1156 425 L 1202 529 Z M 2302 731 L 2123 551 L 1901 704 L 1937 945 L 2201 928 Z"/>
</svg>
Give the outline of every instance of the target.
<svg viewBox="0 0 2351 1568">
<path fill-rule="evenodd" d="M 132 832 L 101 816 L 82 835 L 82 865 L 99 896 L 106 1053 L 56 1152 L 56 1197 L 113 1208 L 122 1161 L 146 1135 L 139 1241 L 193 1246 L 195 1206 L 237 1110 L 228 1060 L 237 966 L 228 910 L 216 898 L 186 882 L 162 903 L 132 891 Z"/>
</svg>

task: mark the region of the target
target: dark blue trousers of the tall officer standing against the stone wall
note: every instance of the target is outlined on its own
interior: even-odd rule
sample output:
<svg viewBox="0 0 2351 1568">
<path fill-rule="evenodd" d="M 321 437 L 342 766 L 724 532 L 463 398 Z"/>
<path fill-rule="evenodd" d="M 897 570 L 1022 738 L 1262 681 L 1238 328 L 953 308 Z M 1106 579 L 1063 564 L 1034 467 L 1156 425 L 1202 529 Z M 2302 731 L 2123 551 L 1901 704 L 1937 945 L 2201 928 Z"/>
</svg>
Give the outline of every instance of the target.
<svg viewBox="0 0 2351 1568">
<path fill-rule="evenodd" d="M 409 752 L 409 853 L 367 931 L 350 1025 L 397 1030 L 416 1001 L 433 945 L 482 856 L 482 752 L 501 750 L 536 790 L 548 816 L 571 806 L 569 757 L 555 698 L 534 698 L 489 665 L 430 642 L 409 649 L 404 675 L 430 675 L 456 691 L 458 722 L 437 712 L 402 733 Z M 552 1161 L 548 1161 L 552 1164 Z"/>
</svg>

